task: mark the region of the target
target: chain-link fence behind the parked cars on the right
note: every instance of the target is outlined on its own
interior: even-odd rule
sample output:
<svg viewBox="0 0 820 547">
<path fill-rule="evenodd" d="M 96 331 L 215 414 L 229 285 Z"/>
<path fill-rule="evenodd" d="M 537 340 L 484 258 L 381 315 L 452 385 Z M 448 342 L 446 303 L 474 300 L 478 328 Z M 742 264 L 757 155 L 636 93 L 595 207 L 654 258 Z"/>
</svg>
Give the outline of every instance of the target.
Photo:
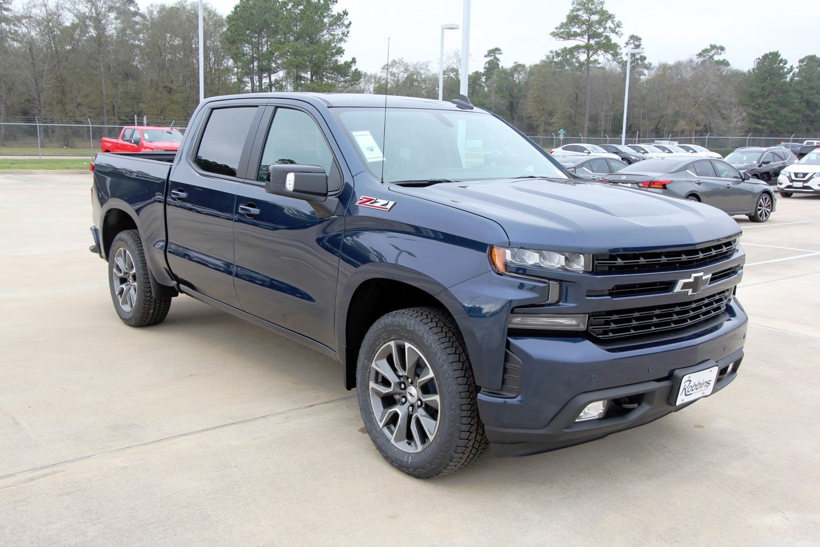
<svg viewBox="0 0 820 547">
<path fill-rule="evenodd" d="M 564 134 L 563 139 L 558 133 L 531 134 L 528 135 L 541 148 L 550 150 L 558 148 L 563 144 L 586 143 L 586 144 L 621 144 L 621 135 L 604 135 L 603 137 L 585 137 L 580 133 Z M 669 140 L 679 144 L 699 144 L 704 148 L 715 151 L 734 150 L 743 146 L 777 146 L 781 143 L 802 143 L 806 139 L 818 139 L 818 135 L 811 134 L 781 134 L 781 135 L 713 135 L 705 134 L 699 136 L 681 136 L 675 134 L 652 134 L 627 135 L 626 144 L 653 143 L 656 140 Z"/>
</svg>

